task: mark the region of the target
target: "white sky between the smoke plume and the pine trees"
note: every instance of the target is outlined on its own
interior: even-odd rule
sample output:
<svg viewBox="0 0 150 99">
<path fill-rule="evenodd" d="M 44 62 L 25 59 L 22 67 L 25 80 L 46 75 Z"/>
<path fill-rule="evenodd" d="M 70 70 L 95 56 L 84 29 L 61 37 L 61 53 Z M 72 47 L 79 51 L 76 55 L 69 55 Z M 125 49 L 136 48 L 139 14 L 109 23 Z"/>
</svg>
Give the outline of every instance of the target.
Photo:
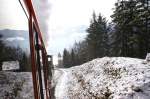
<svg viewBox="0 0 150 99">
<path fill-rule="evenodd" d="M 57 55 L 83 40 L 93 11 L 110 20 L 116 0 L 50 0 L 48 52 Z"/>
</svg>

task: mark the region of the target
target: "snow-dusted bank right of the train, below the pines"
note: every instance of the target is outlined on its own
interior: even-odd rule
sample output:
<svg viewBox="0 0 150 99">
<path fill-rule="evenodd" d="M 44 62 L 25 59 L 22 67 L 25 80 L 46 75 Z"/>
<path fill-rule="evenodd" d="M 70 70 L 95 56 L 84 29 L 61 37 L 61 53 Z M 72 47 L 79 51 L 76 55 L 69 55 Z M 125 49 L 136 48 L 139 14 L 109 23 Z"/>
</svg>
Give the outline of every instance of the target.
<svg viewBox="0 0 150 99">
<path fill-rule="evenodd" d="M 98 58 L 54 76 L 56 99 L 150 99 L 150 64 L 142 59 Z"/>
</svg>

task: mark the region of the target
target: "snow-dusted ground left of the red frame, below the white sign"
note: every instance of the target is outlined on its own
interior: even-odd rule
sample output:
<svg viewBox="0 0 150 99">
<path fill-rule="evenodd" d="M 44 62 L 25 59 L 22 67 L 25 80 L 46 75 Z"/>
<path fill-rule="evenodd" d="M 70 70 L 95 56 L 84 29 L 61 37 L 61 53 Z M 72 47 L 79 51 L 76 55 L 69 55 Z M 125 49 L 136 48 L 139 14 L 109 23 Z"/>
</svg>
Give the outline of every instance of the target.
<svg viewBox="0 0 150 99">
<path fill-rule="evenodd" d="M 34 99 L 30 72 L 0 71 L 0 99 Z"/>
</svg>

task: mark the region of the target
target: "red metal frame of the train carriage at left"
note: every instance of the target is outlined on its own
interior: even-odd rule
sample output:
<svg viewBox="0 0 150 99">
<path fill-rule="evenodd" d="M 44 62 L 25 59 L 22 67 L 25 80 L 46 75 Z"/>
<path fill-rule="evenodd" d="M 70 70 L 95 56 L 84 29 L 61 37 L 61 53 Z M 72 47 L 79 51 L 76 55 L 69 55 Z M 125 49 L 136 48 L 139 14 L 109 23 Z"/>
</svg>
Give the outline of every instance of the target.
<svg viewBox="0 0 150 99">
<path fill-rule="evenodd" d="M 34 97 L 35 99 L 51 99 L 51 92 L 49 90 L 50 85 L 48 79 L 48 59 L 46 48 L 42 39 L 42 33 L 38 25 L 32 1 L 24 0 L 24 4 L 24 9 L 27 10 L 26 14 L 28 14 L 29 21 L 29 37 Z"/>
</svg>

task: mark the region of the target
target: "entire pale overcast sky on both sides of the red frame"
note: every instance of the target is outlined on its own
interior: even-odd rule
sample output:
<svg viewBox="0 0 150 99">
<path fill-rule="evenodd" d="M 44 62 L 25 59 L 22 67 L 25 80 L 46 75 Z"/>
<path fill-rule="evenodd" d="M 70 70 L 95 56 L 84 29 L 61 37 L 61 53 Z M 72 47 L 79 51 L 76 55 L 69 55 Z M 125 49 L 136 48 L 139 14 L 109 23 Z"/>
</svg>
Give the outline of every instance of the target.
<svg viewBox="0 0 150 99">
<path fill-rule="evenodd" d="M 93 11 L 111 20 L 116 0 L 33 0 L 48 54 L 57 59 L 64 48 L 84 40 Z M 0 29 L 28 30 L 18 0 L 0 0 Z M 11 16 L 11 17 L 10 17 Z"/>
</svg>

